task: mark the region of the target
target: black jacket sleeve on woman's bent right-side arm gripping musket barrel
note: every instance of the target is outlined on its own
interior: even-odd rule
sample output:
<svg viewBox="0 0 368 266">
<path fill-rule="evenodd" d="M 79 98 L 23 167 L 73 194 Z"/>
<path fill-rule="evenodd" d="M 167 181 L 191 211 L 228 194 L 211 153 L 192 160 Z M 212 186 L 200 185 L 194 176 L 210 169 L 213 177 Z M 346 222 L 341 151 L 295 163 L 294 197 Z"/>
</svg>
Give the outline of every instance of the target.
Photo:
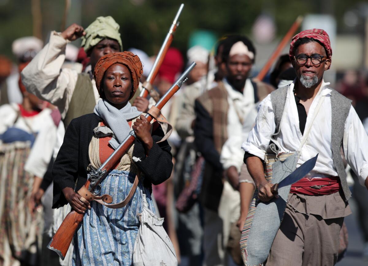
<svg viewBox="0 0 368 266">
<path fill-rule="evenodd" d="M 153 185 L 158 185 L 167 180 L 173 170 L 173 162 L 171 156 L 171 147 L 167 141 L 156 143 L 164 136 L 161 127 L 158 127 L 152 132 L 153 146 L 146 157 L 144 146 L 138 138 L 134 141 L 133 156 L 139 158 L 135 164 L 139 170 L 144 173 L 145 177 L 152 182 Z"/>
</svg>

